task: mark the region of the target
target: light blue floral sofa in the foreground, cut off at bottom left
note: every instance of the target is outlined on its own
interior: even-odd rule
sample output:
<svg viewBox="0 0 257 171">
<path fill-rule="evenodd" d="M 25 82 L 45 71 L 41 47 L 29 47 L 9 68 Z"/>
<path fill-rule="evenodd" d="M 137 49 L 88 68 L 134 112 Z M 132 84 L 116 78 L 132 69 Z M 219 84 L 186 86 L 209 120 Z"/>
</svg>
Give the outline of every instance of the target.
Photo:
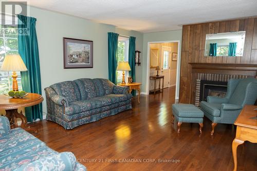
<svg viewBox="0 0 257 171">
<path fill-rule="evenodd" d="M 0 171 L 76 170 L 86 167 L 70 152 L 58 153 L 22 128 L 10 129 L 7 117 L 0 116 Z"/>
</svg>

